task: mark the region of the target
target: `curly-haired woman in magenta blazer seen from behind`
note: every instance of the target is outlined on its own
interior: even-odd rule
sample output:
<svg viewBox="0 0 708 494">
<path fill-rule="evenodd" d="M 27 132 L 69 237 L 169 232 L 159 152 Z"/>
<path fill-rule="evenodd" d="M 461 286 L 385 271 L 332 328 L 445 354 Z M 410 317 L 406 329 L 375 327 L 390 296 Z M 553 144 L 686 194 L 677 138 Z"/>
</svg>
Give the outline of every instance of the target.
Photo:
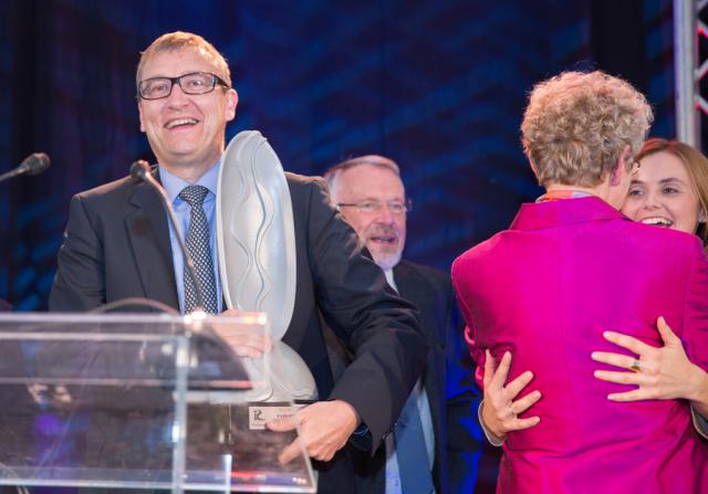
<svg viewBox="0 0 708 494">
<path fill-rule="evenodd" d="M 452 266 L 480 383 L 486 351 L 497 360 L 510 351 L 510 379 L 534 369 L 543 390 L 533 407 L 541 421 L 507 438 L 499 492 L 708 492 L 708 445 L 688 404 L 607 400 L 623 387 L 595 379 L 589 358 L 612 350 L 608 329 L 658 346 L 664 315 L 691 360 L 708 367 L 700 242 L 617 211 L 650 119 L 639 93 L 600 72 L 539 84 L 521 129 L 546 193 Z M 508 414 L 524 419 L 528 401 L 510 400 Z"/>
</svg>

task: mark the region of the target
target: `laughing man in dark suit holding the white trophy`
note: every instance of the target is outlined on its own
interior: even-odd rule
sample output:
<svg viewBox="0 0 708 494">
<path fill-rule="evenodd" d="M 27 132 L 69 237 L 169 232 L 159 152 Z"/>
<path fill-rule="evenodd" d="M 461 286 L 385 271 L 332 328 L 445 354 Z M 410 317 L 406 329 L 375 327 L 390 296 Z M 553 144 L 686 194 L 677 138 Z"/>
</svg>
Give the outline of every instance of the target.
<svg viewBox="0 0 708 494">
<path fill-rule="evenodd" d="M 175 32 L 142 54 L 136 84 L 140 130 L 157 158 L 153 174 L 187 232 L 188 250 L 190 228 L 199 224 L 195 238 L 202 243 L 192 256 L 199 256 L 195 264 L 204 306 L 221 313 L 216 192 L 225 129 L 238 104 L 229 67 L 201 36 Z M 306 362 L 322 399 L 298 412 L 300 437 L 308 453 L 322 462 L 315 465 L 319 492 L 342 494 L 352 492 L 352 464 L 346 450 L 335 453 L 357 427 L 364 435 L 360 443 L 366 434 L 373 448 L 383 441 L 420 372 L 426 345 L 415 309 L 387 291 L 381 270 L 358 253 L 356 235 L 330 207 L 324 182 L 292 174 L 287 180 L 298 286 L 283 341 Z M 147 297 L 191 312 L 191 278 L 185 275 L 178 240 L 158 195 L 129 177 L 72 199 L 58 261 L 52 311 L 86 311 Z M 357 356 L 339 382 L 327 362 L 319 311 Z M 292 458 L 296 451 L 289 446 L 281 456 Z"/>
</svg>

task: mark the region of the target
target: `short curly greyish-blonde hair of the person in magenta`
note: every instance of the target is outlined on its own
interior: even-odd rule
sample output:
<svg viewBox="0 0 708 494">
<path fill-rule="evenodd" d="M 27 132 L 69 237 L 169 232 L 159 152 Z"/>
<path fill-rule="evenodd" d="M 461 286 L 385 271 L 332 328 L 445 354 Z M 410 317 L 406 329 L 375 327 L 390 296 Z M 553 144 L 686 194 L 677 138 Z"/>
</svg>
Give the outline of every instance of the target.
<svg viewBox="0 0 708 494">
<path fill-rule="evenodd" d="M 521 143 L 541 186 L 595 187 L 627 145 L 632 168 L 653 118 L 629 83 L 601 71 L 564 72 L 533 87 Z"/>
</svg>

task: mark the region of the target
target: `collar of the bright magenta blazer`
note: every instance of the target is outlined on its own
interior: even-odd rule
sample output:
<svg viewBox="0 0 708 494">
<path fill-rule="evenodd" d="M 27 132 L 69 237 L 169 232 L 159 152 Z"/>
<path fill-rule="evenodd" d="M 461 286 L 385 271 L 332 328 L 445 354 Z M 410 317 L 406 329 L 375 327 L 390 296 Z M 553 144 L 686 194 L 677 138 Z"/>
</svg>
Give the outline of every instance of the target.
<svg viewBox="0 0 708 494">
<path fill-rule="evenodd" d="M 510 230 L 540 230 L 598 220 L 627 220 L 627 217 L 602 199 L 591 196 L 521 204 Z"/>
</svg>

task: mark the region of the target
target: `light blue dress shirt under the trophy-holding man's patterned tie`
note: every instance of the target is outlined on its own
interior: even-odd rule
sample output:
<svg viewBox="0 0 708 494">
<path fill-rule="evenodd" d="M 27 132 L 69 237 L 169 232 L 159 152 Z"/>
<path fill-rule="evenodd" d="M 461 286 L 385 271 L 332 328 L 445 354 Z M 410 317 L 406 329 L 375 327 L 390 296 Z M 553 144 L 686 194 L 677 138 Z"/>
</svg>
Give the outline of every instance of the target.
<svg viewBox="0 0 708 494">
<path fill-rule="evenodd" d="M 179 198 L 179 192 L 188 186 L 202 186 L 209 189 L 209 192 L 204 199 L 204 212 L 207 216 L 209 222 L 209 249 L 211 250 L 211 259 L 214 261 L 214 280 L 217 283 L 217 304 L 218 312 L 223 311 L 223 302 L 221 295 L 221 281 L 219 280 L 219 259 L 217 255 L 217 230 L 216 230 L 216 216 L 217 216 L 217 183 L 219 180 L 219 168 L 221 167 L 221 160 L 216 162 L 209 171 L 204 174 L 196 183 L 189 183 L 181 178 L 170 174 L 164 167 L 158 165 L 159 180 L 167 192 L 167 197 L 171 201 L 175 209 L 175 216 L 177 217 L 177 223 L 183 239 L 186 238 L 189 230 L 189 218 L 191 210 L 186 201 Z M 179 312 L 185 313 L 185 259 L 181 255 L 181 249 L 179 249 L 179 241 L 177 240 L 177 233 L 171 221 L 169 223 L 169 243 L 173 250 L 173 266 L 175 269 L 175 281 L 177 282 L 177 298 L 179 299 Z"/>
</svg>

